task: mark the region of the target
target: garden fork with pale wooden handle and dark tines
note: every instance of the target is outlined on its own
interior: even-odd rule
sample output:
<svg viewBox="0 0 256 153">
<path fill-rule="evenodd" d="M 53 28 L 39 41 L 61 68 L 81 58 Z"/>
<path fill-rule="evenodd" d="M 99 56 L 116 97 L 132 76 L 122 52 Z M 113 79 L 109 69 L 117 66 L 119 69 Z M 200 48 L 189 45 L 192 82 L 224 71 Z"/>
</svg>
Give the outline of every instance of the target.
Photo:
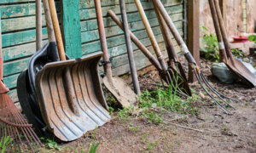
<svg viewBox="0 0 256 153">
<path fill-rule="evenodd" d="M 184 84 L 183 82 L 185 82 L 185 80 L 182 77 L 177 76 L 178 75 L 177 71 L 174 74 L 174 70 L 172 71 L 172 69 L 167 69 L 164 56 L 161 54 L 158 42 L 156 41 L 156 39 L 154 37 L 154 33 L 153 33 L 153 31 L 152 31 L 152 29 L 149 25 L 147 16 L 146 16 L 146 14 L 144 12 L 144 9 L 143 9 L 143 5 L 140 2 L 140 0 L 135 0 L 135 3 L 137 5 L 137 9 L 139 11 L 139 14 L 141 15 L 141 17 L 143 19 L 143 24 L 146 28 L 147 33 L 148 33 L 149 40 L 150 40 L 150 42 L 151 42 L 151 44 L 154 48 L 154 53 L 156 54 L 157 59 L 159 60 L 161 68 L 164 72 L 163 75 L 166 76 L 166 79 L 164 79 L 164 80 L 167 81 L 166 83 L 168 85 L 172 86 L 174 92 L 178 92 L 179 94 L 182 94 L 182 95 L 189 95 L 189 94 L 191 95 L 191 92 L 186 93 L 187 91 L 190 91 L 190 90 L 189 90 L 189 88 L 187 88 L 188 86 L 183 86 L 183 84 Z"/>
</svg>

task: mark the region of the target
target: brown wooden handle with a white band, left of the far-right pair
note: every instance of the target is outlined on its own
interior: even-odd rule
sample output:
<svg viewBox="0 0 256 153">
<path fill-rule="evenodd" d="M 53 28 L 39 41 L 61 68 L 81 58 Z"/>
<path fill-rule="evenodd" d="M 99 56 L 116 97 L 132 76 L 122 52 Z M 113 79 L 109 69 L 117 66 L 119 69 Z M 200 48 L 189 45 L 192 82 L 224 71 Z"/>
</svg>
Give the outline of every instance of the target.
<svg viewBox="0 0 256 153">
<path fill-rule="evenodd" d="M 221 62 L 226 62 L 227 61 L 227 54 L 225 53 L 225 48 L 224 48 L 224 42 L 223 42 L 223 38 L 221 36 L 221 31 L 219 28 L 219 23 L 218 23 L 218 16 L 216 13 L 216 9 L 215 9 L 215 4 L 213 2 L 213 0 L 208 0 L 209 4 L 210 4 L 210 9 L 211 9 L 211 13 L 212 13 L 212 20 L 213 20 L 213 25 L 216 31 L 216 35 L 218 38 L 218 48 L 219 48 L 219 59 Z"/>
</svg>

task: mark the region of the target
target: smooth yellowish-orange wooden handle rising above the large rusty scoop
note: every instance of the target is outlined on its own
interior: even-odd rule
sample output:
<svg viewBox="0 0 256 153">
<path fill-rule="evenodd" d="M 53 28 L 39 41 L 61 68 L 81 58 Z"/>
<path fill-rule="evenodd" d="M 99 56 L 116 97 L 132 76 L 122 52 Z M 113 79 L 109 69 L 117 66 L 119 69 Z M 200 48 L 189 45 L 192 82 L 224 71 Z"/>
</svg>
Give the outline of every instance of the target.
<svg viewBox="0 0 256 153">
<path fill-rule="evenodd" d="M 57 42 L 59 56 L 61 60 L 66 60 L 65 49 L 64 49 L 64 45 L 61 37 L 61 29 L 60 29 L 59 20 L 58 20 L 56 8 L 55 8 L 55 1 L 48 0 L 48 3 L 49 3 L 50 16 L 51 16 L 54 31 L 55 31 L 55 38 Z"/>
</svg>

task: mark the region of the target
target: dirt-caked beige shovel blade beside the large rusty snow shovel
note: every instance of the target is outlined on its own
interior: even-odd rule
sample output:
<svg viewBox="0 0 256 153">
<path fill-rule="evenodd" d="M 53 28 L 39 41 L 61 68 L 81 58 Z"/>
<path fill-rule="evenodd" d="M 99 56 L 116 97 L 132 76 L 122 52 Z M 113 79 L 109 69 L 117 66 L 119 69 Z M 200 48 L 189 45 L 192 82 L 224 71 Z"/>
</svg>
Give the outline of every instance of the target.
<svg viewBox="0 0 256 153">
<path fill-rule="evenodd" d="M 112 79 L 112 80 L 109 80 Z M 135 94 L 127 83 L 119 77 L 104 77 L 103 83 L 113 97 L 124 107 L 137 106 L 137 94 Z"/>
</svg>

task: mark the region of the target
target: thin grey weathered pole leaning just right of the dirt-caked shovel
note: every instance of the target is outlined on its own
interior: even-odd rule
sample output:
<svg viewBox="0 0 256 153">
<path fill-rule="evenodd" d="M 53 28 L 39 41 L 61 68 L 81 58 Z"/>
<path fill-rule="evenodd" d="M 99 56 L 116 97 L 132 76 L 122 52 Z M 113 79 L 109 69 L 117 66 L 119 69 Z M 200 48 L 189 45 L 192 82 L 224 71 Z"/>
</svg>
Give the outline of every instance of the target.
<svg viewBox="0 0 256 153">
<path fill-rule="evenodd" d="M 134 62 L 134 57 L 133 57 L 133 49 L 131 45 L 131 37 L 129 34 L 129 26 L 128 26 L 128 20 L 127 20 L 127 14 L 126 14 L 126 8 L 125 8 L 125 0 L 119 0 L 120 3 L 120 9 L 121 9 L 121 14 L 122 14 L 122 20 L 125 28 L 125 42 L 126 42 L 126 48 L 127 48 L 127 54 L 128 54 L 128 59 L 130 63 L 130 68 L 131 68 L 131 76 L 132 76 L 132 82 L 133 82 L 133 87 L 135 90 L 136 94 L 140 94 L 140 86 L 137 78 L 137 69 L 136 65 Z"/>
</svg>

